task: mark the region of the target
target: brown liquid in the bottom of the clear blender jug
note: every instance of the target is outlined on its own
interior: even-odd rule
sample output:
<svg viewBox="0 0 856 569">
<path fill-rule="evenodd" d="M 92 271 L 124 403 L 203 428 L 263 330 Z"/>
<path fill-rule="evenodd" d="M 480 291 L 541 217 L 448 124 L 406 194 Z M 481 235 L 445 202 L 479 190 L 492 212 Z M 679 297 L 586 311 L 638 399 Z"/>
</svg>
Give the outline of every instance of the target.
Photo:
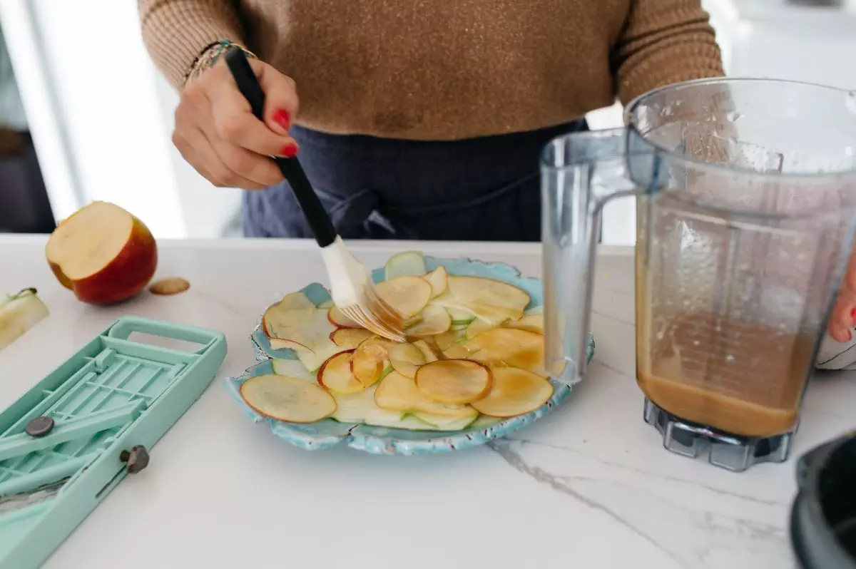
<svg viewBox="0 0 856 569">
<path fill-rule="evenodd" d="M 653 403 L 734 435 L 793 430 L 811 369 L 813 337 L 749 323 L 717 323 L 715 315 L 697 312 L 682 314 L 657 333 L 639 312 L 637 381 Z"/>
</svg>

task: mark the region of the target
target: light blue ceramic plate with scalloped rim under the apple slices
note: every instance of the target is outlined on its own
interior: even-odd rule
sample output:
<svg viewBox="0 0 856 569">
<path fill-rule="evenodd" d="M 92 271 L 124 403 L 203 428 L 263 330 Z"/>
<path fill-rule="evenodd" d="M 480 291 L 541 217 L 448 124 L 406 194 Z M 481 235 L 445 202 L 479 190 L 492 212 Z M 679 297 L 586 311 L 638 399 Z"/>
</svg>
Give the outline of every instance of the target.
<svg viewBox="0 0 856 569">
<path fill-rule="evenodd" d="M 484 276 L 498 281 L 508 282 L 508 284 L 520 287 L 529 293 L 532 299 L 529 309 L 540 306 L 544 302 L 544 287 L 542 287 L 539 279 L 534 279 L 526 276 L 521 276 L 520 271 L 514 267 L 504 263 L 483 263 L 481 261 L 473 261 L 467 258 L 432 258 L 425 256 L 425 267 L 431 271 L 439 265 L 446 267 L 449 275 L 459 276 Z M 372 272 L 372 278 L 375 282 L 383 281 L 384 269 L 377 269 Z M 303 289 L 303 293 L 315 303 L 320 305 L 330 300 L 330 293 L 327 289 L 313 282 Z M 278 299 L 277 299 L 278 300 Z M 280 437 L 283 441 L 290 442 L 298 447 L 314 450 L 318 448 L 332 447 L 341 442 L 345 442 L 348 447 L 364 450 L 367 453 L 375 454 L 421 454 L 421 453 L 446 453 L 461 448 L 475 447 L 484 442 L 500 438 L 508 435 L 514 430 L 520 429 L 525 424 L 532 423 L 538 418 L 544 417 L 550 409 L 562 403 L 568 394 L 571 393 L 571 387 L 562 382 L 550 380 L 553 384 L 553 396 L 543 406 L 538 407 L 533 412 L 520 415 L 518 417 L 502 419 L 490 426 L 476 427 L 473 426 L 466 430 L 458 430 L 454 432 L 439 431 L 439 430 L 406 430 L 406 429 L 390 429 L 386 427 L 376 427 L 366 424 L 339 423 L 338 421 L 326 418 L 311 424 L 294 424 L 276 421 L 275 419 L 266 418 L 259 413 L 253 411 L 253 408 L 247 406 L 247 403 L 241 398 L 239 389 L 241 383 L 247 381 L 250 377 L 260 376 L 266 373 L 272 373 L 273 367 L 271 359 L 297 359 L 297 356 L 292 350 L 274 350 L 270 348 L 265 331 L 262 329 L 261 317 L 253 334 L 250 336 L 253 340 L 253 348 L 256 353 L 256 359 L 259 363 L 247 369 L 240 377 L 226 378 L 227 388 L 229 393 L 235 398 L 238 405 L 247 416 L 253 419 L 256 423 L 266 423 L 270 426 L 270 430 L 274 435 Z M 591 334 L 588 337 L 587 357 L 591 361 L 594 355 L 594 338 Z"/>
</svg>

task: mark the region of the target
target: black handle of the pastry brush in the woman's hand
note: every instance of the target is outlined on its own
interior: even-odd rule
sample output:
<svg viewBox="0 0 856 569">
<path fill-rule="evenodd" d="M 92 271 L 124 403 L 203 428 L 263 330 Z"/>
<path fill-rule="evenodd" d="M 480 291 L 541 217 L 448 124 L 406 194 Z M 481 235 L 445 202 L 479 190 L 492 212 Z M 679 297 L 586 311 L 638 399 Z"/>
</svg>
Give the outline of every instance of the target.
<svg viewBox="0 0 856 569">
<path fill-rule="evenodd" d="M 235 83 L 238 84 L 238 89 L 252 107 L 253 115 L 259 121 L 264 121 L 265 92 L 262 91 L 253 68 L 247 62 L 247 56 L 241 50 L 229 50 L 226 53 L 226 63 L 229 65 L 232 77 L 235 78 Z M 312 229 L 312 234 L 318 241 L 318 246 L 330 245 L 336 240 L 336 228 L 333 227 L 327 210 L 324 210 L 324 205 L 318 199 L 318 194 L 312 189 L 300 162 L 297 158 L 273 157 L 273 160 L 288 181 L 288 185 L 291 186 L 300 209 L 303 210 L 303 216 L 306 217 L 306 222 L 309 223 L 309 228 Z"/>
</svg>

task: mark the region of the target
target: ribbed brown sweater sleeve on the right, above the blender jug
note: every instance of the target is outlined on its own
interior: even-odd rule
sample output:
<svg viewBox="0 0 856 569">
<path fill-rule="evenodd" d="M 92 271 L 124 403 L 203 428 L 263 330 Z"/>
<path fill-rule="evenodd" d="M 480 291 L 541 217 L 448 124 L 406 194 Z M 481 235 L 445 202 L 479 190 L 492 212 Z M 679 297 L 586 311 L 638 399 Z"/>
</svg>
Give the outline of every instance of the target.
<svg viewBox="0 0 856 569">
<path fill-rule="evenodd" d="M 700 0 L 632 0 L 613 57 L 621 104 L 658 87 L 724 75 Z"/>
</svg>

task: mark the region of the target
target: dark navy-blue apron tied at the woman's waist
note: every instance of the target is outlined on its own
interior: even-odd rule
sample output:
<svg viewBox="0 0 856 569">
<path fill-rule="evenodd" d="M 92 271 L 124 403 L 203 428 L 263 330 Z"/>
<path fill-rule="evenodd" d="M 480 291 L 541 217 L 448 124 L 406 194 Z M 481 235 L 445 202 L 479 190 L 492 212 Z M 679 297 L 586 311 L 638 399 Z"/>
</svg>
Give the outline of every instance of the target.
<svg viewBox="0 0 856 569">
<path fill-rule="evenodd" d="M 345 239 L 538 241 L 538 157 L 585 119 L 526 133 L 454 140 L 289 131 L 300 163 Z M 312 237 L 287 182 L 243 193 L 247 237 Z"/>
</svg>

